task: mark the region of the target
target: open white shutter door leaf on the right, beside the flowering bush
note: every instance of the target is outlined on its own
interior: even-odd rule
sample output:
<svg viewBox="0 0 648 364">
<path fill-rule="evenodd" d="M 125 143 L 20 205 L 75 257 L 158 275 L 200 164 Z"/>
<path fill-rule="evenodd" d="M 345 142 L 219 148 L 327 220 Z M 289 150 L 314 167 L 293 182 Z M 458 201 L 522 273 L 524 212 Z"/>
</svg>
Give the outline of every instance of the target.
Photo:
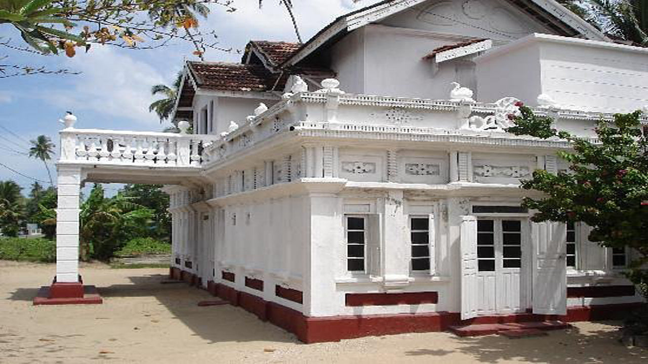
<svg viewBox="0 0 648 364">
<path fill-rule="evenodd" d="M 564 223 L 531 223 L 533 313 L 567 313 L 566 234 Z"/>
</svg>

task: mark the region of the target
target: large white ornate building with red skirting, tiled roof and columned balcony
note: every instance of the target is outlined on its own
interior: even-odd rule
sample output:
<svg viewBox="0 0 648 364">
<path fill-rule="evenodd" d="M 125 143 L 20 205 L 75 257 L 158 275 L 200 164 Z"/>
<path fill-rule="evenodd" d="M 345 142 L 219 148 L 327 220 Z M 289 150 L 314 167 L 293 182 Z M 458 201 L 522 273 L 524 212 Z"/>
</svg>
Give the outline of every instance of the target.
<svg viewBox="0 0 648 364">
<path fill-rule="evenodd" d="M 594 135 L 647 88 L 648 49 L 554 0 L 383 1 L 303 45 L 187 62 L 175 117 L 195 134 L 61 131 L 51 297 L 82 301 L 80 183 L 165 183 L 171 275 L 305 342 L 608 317 L 641 301 L 627 252 L 520 207 L 568 144 L 503 128 L 522 100 Z"/>
</svg>

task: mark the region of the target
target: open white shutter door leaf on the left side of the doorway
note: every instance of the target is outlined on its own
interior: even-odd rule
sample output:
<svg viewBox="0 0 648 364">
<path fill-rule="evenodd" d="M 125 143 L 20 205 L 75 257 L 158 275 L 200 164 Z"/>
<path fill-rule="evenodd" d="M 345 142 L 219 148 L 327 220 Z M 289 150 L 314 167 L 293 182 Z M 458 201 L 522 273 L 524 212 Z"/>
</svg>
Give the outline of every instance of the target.
<svg viewBox="0 0 648 364">
<path fill-rule="evenodd" d="M 477 219 L 461 216 L 461 319 L 477 315 Z"/>
</svg>

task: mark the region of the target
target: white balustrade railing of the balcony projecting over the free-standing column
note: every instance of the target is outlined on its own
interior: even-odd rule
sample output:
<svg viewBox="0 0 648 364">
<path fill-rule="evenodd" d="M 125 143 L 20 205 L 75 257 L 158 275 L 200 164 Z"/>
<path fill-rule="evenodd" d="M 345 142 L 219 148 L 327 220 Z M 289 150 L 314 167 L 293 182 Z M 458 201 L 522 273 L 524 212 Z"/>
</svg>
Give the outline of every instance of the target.
<svg viewBox="0 0 648 364">
<path fill-rule="evenodd" d="M 60 163 L 201 167 L 214 135 L 65 128 Z"/>
</svg>

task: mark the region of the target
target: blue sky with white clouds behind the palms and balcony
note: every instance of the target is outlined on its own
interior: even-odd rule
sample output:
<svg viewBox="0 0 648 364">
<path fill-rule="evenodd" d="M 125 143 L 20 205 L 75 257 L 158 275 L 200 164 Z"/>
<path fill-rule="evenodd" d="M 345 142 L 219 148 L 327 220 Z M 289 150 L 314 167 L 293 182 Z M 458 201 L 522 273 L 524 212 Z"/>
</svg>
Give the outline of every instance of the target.
<svg viewBox="0 0 648 364">
<path fill-rule="evenodd" d="M 306 40 L 335 17 L 378 0 L 293 0 L 302 37 Z M 236 0 L 237 12 L 227 13 L 214 8 L 211 16 L 201 22 L 202 28 L 214 29 L 222 47 L 233 51 L 209 51 L 205 60 L 238 62 L 248 40 L 295 41 L 292 23 L 279 0 L 265 0 L 262 9 L 257 0 Z M 19 40 L 12 28 L 1 25 L 0 38 Z M 25 56 L 0 48 L 0 63 L 45 65 L 49 69 L 70 69 L 82 74 L 58 76 L 35 75 L 0 79 L 0 163 L 27 176 L 47 181 L 47 172 L 40 161 L 24 154 L 27 141 L 44 134 L 52 138 L 58 150 L 58 119 L 66 110 L 78 117 L 77 128 L 159 131 L 154 113 L 148 104 L 154 84 L 170 84 L 182 67 L 183 60 L 195 59 L 187 44 L 178 43 L 155 50 L 129 50 L 110 46 L 94 46 L 90 52 L 78 51 L 74 58 L 66 56 Z M 1 60 L 8 55 L 9 58 Z M 7 131 L 9 130 L 9 131 Z M 13 135 L 15 133 L 18 137 Z M 50 163 L 55 179 L 54 163 Z M 0 181 L 13 179 L 29 192 L 32 179 L 17 175 L 0 166 Z"/>
</svg>

